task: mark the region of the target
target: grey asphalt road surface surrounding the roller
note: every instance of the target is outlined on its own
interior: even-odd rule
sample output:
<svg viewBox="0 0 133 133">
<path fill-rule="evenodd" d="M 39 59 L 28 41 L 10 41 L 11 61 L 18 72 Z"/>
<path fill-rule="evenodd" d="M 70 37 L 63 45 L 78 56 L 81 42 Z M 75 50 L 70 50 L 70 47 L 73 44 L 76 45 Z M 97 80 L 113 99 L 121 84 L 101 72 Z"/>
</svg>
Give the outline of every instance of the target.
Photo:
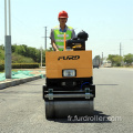
<svg viewBox="0 0 133 133">
<path fill-rule="evenodd" d="M 41 79 L 0 90 L 0 133 L 133 133 L 133 70 L 94 69 L 93 74 L 94 117 L 47 121 Z"/>
</svg>

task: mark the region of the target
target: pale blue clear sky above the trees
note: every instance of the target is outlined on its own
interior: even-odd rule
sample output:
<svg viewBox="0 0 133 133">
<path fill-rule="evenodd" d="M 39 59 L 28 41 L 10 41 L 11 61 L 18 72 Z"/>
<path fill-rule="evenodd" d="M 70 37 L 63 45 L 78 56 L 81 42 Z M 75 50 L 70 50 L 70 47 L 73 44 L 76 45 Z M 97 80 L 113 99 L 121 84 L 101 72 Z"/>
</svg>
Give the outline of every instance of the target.
<svg viewBox="0 0 133 133">
<path fill-rule="evenodd" d="M 59 24 L 58 14 L 69 14 L 66 24 L 78 34 L 89 33 L 86 50 L 108 57 L 133 53 L 133 0 L 10 0 L 11 42 L 44 49 L 47 35 Z M 8 31 L 9 32 L 9 31 Z M 47 48 L 51 47 L 47 39 Z M 4 0 L 0 0 L 0 44 L 4 44 Z"/>
</svg>

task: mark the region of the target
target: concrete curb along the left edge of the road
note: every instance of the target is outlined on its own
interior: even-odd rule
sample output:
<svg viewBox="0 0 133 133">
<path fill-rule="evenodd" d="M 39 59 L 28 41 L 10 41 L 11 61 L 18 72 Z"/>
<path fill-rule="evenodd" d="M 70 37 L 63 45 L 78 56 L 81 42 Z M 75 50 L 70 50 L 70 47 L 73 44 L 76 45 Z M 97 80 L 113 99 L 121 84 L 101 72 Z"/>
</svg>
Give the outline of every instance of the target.
<svg viewBox="0 0 133 133">
<path fill-rule="evenodd" d="M 43 74 L 43 76 L 45 74 Z M 19 85 L 19 84 L 30 82 L 30 81 L 33 81 L 33 80 L 38 80 L 38 79 L 41 79 L 41 78 L 42 78 L 42 75 L 35 75 L 35 76 L 31 76 L 31 78 L 12 79 L 12 81 L 3 81 L 3 82 L 0 82 L 0 90 L 9 88 L 9 86 Z"/>
</svg>

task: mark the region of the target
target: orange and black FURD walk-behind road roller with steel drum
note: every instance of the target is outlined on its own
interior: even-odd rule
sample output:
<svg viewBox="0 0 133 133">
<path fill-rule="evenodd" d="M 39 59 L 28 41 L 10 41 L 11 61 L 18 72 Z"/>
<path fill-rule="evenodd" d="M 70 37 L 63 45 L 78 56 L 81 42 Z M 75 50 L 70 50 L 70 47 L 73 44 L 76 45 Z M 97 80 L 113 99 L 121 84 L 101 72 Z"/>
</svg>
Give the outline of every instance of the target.
<svg viewBox="0 0 133 133">
<path fill-rule="evenodd" d="M 64 42 L 63 51 L 45 52 L 43 100 L 47 119 L 93 115 L 92 51 L 85 50 L 89 34 L 80 32 Z"/>
</svg>

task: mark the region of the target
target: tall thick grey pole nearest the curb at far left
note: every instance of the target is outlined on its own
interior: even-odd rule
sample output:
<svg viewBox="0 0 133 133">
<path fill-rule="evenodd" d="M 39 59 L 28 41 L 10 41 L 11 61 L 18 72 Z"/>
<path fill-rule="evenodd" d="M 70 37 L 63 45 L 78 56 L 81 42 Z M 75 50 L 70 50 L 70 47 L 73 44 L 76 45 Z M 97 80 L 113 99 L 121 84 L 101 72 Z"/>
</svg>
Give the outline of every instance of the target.
<svg viewBox="0 0 133 133">
<path fill-rule="evenodd" d="M 9 35 L 7 33 L 7 0 L 4 0 L 4 70 L 6 79 L 11 79 L 11 8 L 10 0 L 9 3 Z"/>
</svg>

